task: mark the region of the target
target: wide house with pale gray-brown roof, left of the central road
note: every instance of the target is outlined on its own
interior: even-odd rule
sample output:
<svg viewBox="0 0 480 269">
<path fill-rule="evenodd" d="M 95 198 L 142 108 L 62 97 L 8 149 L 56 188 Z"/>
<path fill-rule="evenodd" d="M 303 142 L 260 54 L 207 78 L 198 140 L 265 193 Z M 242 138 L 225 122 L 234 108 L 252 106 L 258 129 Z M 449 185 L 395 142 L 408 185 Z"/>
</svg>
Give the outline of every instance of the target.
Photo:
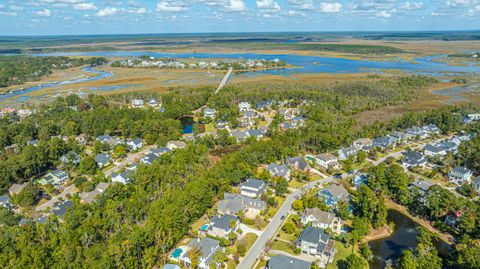
<svg viewBox="0 0 480 269">
<path fill-rule="evenodd" d="M 238 212 L 246 212 L 250 216 L 260 214 L 260 211 L 265 210 L 267 204 L 258 199 L 243 196 L 241 194 L 225 193 L 223 200 L 218 203 L 219 214 L 237 215 Z"/>
</svg>

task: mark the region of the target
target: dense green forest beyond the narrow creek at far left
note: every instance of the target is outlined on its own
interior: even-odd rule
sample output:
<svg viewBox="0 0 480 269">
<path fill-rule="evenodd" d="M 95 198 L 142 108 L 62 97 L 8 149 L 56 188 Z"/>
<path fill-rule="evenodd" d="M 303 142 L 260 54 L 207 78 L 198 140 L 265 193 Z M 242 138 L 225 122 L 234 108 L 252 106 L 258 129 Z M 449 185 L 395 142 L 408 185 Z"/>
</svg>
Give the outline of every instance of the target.
<svg viewBox="0 0 480 269">
<path fill-rule="evenodd" d="M 55 69 L 65 69 L 81 65 L 101 65 L 108 60 L 101 57 L 32 57 L 0 56 L 0 87 L 37 81 Z"/>
</svg>

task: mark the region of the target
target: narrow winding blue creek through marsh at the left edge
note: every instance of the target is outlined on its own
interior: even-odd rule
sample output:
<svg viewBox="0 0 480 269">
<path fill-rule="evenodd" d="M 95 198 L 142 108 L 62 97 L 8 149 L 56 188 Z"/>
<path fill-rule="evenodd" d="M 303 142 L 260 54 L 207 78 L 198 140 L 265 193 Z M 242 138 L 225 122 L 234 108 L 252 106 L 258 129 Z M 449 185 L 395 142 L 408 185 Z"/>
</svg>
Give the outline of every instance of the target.
<svg viewBox="0 0 480 269">
<path fill-rule="evenodd" d="M 0 100 L 24 95 L 24 94 L 27 94 L 27 93 L 31 93 L 31 92 L 34 92 L 34 91 L 41 90 L 41 89 L 52 88 L 52 87 L 57 87 L 57 86 L 62 86 L 62 85 L 70 85 L 70 84 L 75 84 L 75 83 L 80 83 L 80 82 L 100 80 L 100 79 L 110 77 L 112 75 L 112 73 L 110 73 L 110 72 L 105 72 L 105 71 L 102 71 L 102 70 L 94 69 L 93 67 L 90 67 L 90 66 L 82 68 L 82 70 L 85 71 L 85 72 L 91 73 L 91 74 L 95 74 L 96 76 L 88 77 L 88 78 L 79 78 L 79 79 L 75 79 L 75 80 L 66 80 L 66 81 L 46 83 L 46 84 L 33 86 L 33 87 L 30 87 L 30 88 L 25 88 L 25 89 L 19 90 L 19 91 L 9 92 L 9 93 L 6 93 L 6 94 L 0 94 Z M 23 99 L 25 99 L 25 98 L 26 97 L 24 97 Z"/>
</svg>

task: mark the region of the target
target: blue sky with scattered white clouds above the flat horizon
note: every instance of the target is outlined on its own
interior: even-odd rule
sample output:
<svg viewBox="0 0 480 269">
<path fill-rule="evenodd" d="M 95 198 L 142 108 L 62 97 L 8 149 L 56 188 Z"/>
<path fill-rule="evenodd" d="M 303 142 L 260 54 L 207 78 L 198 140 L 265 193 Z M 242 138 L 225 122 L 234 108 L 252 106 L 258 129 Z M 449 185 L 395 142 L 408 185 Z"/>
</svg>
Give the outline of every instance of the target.
<svg viewBox="0 0 480 269">
<path fill-rule="evenodd" d="M 480 0 L 0 0 L 0 35 L 480 29 Z"/>
</svg>

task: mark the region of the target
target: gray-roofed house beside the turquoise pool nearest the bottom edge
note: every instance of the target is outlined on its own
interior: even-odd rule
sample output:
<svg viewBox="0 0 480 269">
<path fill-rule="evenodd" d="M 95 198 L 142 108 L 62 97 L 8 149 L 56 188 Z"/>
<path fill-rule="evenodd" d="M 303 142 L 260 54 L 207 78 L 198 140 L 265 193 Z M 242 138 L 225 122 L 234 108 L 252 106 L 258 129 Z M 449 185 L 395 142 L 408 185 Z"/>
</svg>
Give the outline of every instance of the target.
<svg viewBox="0 0 480 269">
<path fill-rule="evenodd" d="M 186 266 L 191 268 L 191 260 L 189 251 L 191 249 L 198 249 L 199 250 L 199 257 L 198 257 L 198 267 L 200 269 L 210 269 L 210 264 L 214 264 L 214 268 L 218 268 L 220 264 L 216 264 L 213 260 L 213 256 L 218 251 L 223 251 L 223 248 L 220 247 L 220 242 L 215 239 L 211 239 L 208 237 L 205 238 L 194 238 L 188 243 L 188 251 L 182 254 L 179 258 L 180 261 L 185 263 Z"/>
</svg>

